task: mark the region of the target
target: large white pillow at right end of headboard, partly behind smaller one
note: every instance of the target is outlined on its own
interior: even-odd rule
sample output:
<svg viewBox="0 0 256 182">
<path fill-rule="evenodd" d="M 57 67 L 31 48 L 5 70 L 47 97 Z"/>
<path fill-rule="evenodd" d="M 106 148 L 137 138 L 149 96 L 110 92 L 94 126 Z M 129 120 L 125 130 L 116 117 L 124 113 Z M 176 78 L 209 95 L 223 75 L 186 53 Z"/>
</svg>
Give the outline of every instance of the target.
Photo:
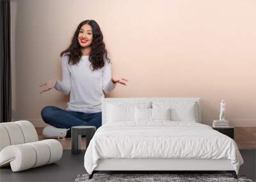
<svg viewBox="0 0 256 182">
<path fill-rule="evenodd" d="M 154 109 L 170 108 L 172 121 L 198 121 L 198 107 L 195 102 L 152 102 Z"/>
</svg>

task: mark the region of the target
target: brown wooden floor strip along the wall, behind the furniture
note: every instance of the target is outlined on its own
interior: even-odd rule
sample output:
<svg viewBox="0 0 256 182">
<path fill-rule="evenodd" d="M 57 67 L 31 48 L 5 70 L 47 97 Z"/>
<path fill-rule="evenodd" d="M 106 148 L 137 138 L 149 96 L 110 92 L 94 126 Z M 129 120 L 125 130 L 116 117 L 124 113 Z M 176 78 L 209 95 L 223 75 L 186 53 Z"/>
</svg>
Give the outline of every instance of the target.
<svg viewBox="0 0 256 182">
<path fill-rule="evenodd" d="M 47 139 L 42 135 L 43 128 L 36 128 L 39 140 Z M 63 149 L 71 149 L 71 139 L 58 139 Z M 256 127 L 236 127 L 235 141 L 239 149 L 256 149 Z M 86 138 L 82 138 L 82 149 L 86 147 Z"/>
</svg>

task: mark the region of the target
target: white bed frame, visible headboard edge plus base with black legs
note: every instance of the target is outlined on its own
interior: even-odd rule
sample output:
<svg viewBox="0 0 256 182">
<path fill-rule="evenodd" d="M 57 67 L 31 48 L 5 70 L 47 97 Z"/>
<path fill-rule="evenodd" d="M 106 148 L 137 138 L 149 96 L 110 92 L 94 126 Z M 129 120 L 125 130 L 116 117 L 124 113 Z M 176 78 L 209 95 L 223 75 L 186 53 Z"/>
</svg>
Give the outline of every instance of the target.
<svg viewBox="0 0 256 182">
<path fill-rule="evenodd" d="M 103 98 L 102 100 L 102 125 L 106 123 L 106 102 L 195 102 L 198 105 L 198 121 L 201 122 L 201 102 L 200 98 Z M 108 158 L 100 159 L 97 167 L 90 174 L 100 171 L 148 171 L 152 173 L 163 171 L 227 171 L 237 179 L 236 171 L 230 160 L 211 159 L 163 159 L 163 158 Z"/>
</svg>

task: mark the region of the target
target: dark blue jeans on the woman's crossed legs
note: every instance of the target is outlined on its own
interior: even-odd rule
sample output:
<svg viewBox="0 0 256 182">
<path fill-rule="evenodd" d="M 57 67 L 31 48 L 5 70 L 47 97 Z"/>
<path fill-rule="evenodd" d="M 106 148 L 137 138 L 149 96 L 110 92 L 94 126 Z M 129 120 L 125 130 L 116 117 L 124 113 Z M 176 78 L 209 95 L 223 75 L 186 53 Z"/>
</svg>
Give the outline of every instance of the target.
<svg viewBox="0 0 256 182">
<path fill-rule="evenodd" d="M 45 123 L 56 128 L 71 128 L 72 126 L 95 126 L 99 128 L 102 123 L 101 112 L 85 113 L 64 110 L 55 106 L 46 106 L 41 111 Z"/>
</svg>

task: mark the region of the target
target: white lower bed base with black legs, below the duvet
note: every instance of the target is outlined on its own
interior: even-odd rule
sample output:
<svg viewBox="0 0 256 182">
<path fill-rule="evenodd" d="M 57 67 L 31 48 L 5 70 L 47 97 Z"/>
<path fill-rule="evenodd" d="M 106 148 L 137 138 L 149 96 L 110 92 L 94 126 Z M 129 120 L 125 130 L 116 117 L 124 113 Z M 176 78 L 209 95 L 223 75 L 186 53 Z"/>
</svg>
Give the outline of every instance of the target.
<svg viewBox="0 0 256 182">
<path fill-rule="evenodd" d="M 100 171 L 118 171 L 118 172 L 150 172 L 163 173 L 170 171 L 226 171 L 231 173 L 237 179 L 236 171 L 231 165 L 230 160 L 210 160 L 210 159 L 116 159 L 109 158 L 99 160 L 95 170 L 90 174 L 89 179 L 92 179 L 93 174 Z"/>
</svg>

